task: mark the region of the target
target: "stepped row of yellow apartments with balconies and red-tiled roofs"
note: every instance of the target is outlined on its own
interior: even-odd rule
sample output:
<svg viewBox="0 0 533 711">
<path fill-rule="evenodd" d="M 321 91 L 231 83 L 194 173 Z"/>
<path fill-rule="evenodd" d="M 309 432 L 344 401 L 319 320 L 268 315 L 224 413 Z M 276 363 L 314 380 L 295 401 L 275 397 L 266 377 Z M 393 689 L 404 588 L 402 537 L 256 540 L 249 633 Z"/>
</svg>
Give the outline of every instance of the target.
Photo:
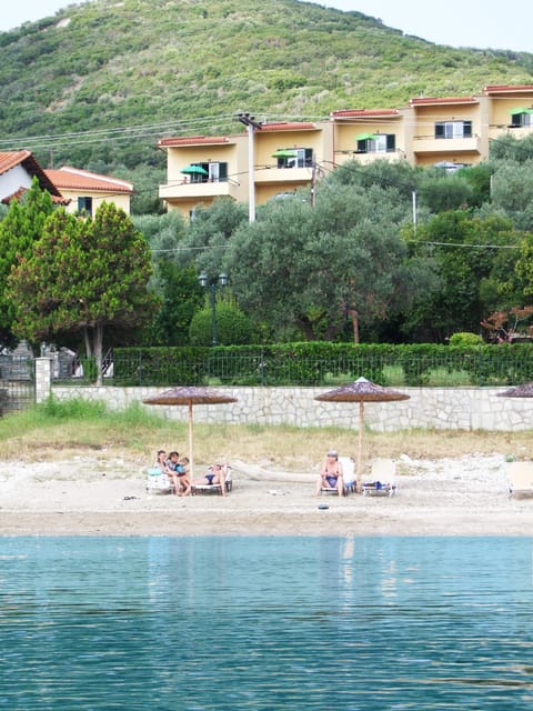
<svg viewBox="0 0 533 711">
<path fill-rule="evenodd" d="M 419 97 L 400 109 L 333 111 L 328 121 L 280 121 L 262 123 L 251 133 L 162 139 L 167 183 L 159 196 L 187 218 L 217 197 L 248 202 L 250 180 L 255 202 L 262 204 L 311 189 L 346 161 L 474 166 L 489 158 L 492 140 L 529 136 L 532 117 L 533 84 L 487 86 L 480 96 Z"/>
</svg>

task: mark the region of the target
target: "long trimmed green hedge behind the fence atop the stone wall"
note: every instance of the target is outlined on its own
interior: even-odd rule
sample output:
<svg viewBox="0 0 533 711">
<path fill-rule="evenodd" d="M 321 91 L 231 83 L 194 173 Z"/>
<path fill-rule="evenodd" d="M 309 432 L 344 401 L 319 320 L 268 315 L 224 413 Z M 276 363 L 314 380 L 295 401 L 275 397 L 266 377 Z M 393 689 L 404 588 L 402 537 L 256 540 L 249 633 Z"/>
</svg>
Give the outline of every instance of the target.
<svg viewBox="0 0 533 711">
<path fill-rule="evenodd" d="M 506 385 L 533 380 L 533 346 L 450 347 L 305 342 L 120 348 L 120 385 L 324 385 L 364 375 L 385 385 Z"/>
</svg>

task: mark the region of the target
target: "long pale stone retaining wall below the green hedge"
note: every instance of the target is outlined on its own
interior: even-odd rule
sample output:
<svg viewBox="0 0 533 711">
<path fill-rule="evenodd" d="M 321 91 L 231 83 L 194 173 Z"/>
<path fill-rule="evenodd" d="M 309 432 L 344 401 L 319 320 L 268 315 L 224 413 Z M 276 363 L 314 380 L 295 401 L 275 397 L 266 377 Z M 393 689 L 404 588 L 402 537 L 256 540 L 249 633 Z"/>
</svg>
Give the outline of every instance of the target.
<svg viewBox="0 0 533 711">
<path fill-rule="evenodd" d="M 51 393 L 58 400 L 86 398 L 103 401 L 110 409 L 124 409 L 164 388 L 60 387 Z M 328 388 L 217 388 L 238 402 L 194 405 L 198 422 L 229 424 L 292 424 L 296 427 L 359 427 L 358 403 L 319 402 L 315 395 Z M 401 388 L 410 400 L 364 405 L 365 428 L 393 430 L 451 429 L 515 431 L 533 428 L 533 399 L 499 398 L 505 388 Z M 39 387 L 36 392 L 46 392 Z M 187 420 L 187 407 L 144 405 L 162 417 Z"/>
</svg>

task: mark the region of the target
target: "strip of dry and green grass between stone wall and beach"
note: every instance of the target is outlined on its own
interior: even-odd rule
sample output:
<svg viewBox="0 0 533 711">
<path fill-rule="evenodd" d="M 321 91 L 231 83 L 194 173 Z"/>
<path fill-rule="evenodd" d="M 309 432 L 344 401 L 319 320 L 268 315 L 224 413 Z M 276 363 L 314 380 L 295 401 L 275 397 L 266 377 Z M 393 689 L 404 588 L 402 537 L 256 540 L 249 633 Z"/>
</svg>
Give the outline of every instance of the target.
<svg viewBox="0 0 533 711">
<path fill-rule="evenodd" d="M 363 461 L 402 454 L 435 460 L 494 452 L 509 459 L 524 459 L 533 457 L 531 434 L 531 431 L 365 430 Z M 331 447 L 356 457 L 356 430 L 194 422 L 198 464 L 225 459 L 285 471 L 315 471 Z M 87 401 L 48 402 L 0 419 L 3 460 L 70 459 L 90 453 L 143 467 L 152 463 L 160 448 L 187 453 L 187 421 L 164 419 L 139 403 L 127 410 L 109 411 L 100 403 Z"/>
</svg>

